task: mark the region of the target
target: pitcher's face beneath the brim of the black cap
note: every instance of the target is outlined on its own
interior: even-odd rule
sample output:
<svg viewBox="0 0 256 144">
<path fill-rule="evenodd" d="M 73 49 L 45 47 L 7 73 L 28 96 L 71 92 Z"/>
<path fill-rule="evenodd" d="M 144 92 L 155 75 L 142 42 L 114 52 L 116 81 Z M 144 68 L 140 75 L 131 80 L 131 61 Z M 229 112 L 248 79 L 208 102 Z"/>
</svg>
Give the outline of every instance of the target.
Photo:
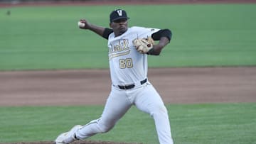
<svg viewBox="0 0 256 144">
<path fill-rule="evenodd" d="M 117 21 L 113 21 L 112 23 L 110 23 L 110 27 L 113 29 L 115 36 L 122 35 L 127 31 L 128 28 L 127 18 L 121 18 Z"/>
</svg>

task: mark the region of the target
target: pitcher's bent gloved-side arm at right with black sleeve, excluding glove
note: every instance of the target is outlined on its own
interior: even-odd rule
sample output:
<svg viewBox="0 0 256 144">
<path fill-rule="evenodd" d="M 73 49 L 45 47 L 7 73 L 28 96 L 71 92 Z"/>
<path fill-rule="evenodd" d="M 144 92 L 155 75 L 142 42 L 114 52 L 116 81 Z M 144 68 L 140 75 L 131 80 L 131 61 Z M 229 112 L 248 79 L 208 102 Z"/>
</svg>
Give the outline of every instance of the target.
<svg viewBox="0 0 256 144">
<path fill-rule="evenodd" d="M 151 35 L 151 38 L 153 40 L 159 40 L 159 43 L 154 45 L 149 52 L 147 52 L 148 55 L 160 55 L 161 50 L 170 43 L 171 41 L 171 31 L 169 29 L 163 29 L 160 31 L 157 31 L 156 33 L 153 33 Z"/>
</svg>

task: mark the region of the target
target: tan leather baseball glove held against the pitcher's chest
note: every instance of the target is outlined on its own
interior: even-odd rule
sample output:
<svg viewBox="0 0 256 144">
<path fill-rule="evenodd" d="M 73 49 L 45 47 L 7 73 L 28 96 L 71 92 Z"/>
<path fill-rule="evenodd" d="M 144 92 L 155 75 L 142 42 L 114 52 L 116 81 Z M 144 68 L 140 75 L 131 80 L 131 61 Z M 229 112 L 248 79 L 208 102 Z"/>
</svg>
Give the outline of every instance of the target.
<svg viewBox="0 0 256 144">
<path fill-rule="evenodd" d="M 147 38 L 135 38 L 132 43 L 138 52 L 146 54 L 153 48 L 154 40 L 148 36 Z"/>
</svg>

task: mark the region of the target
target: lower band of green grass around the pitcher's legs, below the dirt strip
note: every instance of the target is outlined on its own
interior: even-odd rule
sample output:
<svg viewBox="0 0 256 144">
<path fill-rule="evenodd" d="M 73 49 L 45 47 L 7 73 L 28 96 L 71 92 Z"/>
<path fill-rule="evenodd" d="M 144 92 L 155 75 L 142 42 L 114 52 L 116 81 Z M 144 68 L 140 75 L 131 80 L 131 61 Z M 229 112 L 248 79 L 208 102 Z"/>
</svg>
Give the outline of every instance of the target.
<svg viewBox="0 0 256 144">
<path fill-rule="evenodd" d="M 54 140 L 72 126 L 98 118 L 102 109 L 103 106 L 0 107 L 0 143 Z M 253 103 L 172 104 L 167 109 L 176 144 L 256 143 Z M 112 131 L 90 140 L 158 143 L 153 119 L 134 107 Z"/>
</svg>

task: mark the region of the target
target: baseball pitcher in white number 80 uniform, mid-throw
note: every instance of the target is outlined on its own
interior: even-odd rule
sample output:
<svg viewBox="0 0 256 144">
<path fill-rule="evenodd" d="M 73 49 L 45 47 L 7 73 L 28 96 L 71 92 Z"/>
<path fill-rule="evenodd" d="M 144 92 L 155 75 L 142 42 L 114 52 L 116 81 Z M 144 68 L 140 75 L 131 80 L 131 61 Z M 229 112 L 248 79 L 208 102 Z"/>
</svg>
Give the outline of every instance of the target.
<svg viewBox="0 0 256 144">
<path fill-rule="evenodd" d="M 78 22 L 79 28 L 90 30 L 108 40 L 112 89 L 100 118 L 61 133 L 55 140 L 56 144 L 107 133 L 131 106 L 137 106 L 137 109 L 154 118 L 160 144 L 174 143 L 168 111 L 147 77 L 147 56 L 161 53 L 171 40 L 171 31 L 137 26 L 128 28 L 128 20 L 126 11 L 117 9 L 110 13 L 110 28 L 93 25 L 85 19 Z M 159 42 L 155 44 L 154 40 Z"/>
</svg>

